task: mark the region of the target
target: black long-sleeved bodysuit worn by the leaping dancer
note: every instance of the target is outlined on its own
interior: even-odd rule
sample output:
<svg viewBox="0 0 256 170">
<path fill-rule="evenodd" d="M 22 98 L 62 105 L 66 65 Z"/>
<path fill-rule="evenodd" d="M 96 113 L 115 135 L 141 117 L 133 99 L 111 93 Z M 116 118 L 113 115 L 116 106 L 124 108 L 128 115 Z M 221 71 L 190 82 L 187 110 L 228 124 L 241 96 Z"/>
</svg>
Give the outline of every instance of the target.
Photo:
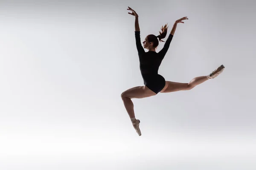
<svg viewBox="0 0 256 170">
<path fill-rule="evenodd" d="M 165 79 L 158 74 L 158 68 L 170 46 L 172 37 L 173 35 L 170 34 L 163 49 L 158 53 L 155 51 L 145 52 L 140 41 L 140 31 L 135 31 L 136 46 L 140 59 L 140 72 L 143 77 L 144 85 L 156 94 L 165 86 Z"/>
</svg>

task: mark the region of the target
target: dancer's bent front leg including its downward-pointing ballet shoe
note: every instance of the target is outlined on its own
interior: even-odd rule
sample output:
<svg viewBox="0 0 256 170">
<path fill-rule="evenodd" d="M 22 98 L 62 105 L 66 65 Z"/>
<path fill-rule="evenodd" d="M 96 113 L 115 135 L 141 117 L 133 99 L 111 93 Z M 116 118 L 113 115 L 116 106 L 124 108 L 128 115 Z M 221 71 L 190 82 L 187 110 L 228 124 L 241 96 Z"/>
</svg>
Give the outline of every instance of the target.
<svg viewBox="0 0 256 170">
<path fill-rule="evenodd" d="M 137 120 L 135 118 L 134 104 L 131 101 L 131 99 L 133 98 L 141 99 L 141 98 L 150 97 L 154 95 L 156 94 L 153 91 L 151 91 L 147 86 L 137 86 L 134 88 L 130 88 L 121 94 L 122 101 L 124 102 L 124 105 L 125 105 L 125 109 L 129 114 L 131 118 L 131 122 L 133 123 L 133 126 L 139 136 L 141 135 L 140 128 L 139 128 L 140 120 Z"/>
</svg>

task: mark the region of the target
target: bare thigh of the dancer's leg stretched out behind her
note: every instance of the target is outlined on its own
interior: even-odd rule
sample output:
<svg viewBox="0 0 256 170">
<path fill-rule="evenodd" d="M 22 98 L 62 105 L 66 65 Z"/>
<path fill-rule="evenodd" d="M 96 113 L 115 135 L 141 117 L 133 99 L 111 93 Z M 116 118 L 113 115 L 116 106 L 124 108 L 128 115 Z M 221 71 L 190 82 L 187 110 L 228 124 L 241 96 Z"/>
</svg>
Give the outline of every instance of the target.
<svg viewBox="0 0 256 170">
<path fill-rule="evenodd" d="M 170 92 L 175 92 L 175 91 L 185 91 L 189 90 L 189 83 L 181 83 L 181 82 L 170 82 L 166 81 L 166 84 L 163 88 L 161 93 L 170 93 Z"/>
</svg>

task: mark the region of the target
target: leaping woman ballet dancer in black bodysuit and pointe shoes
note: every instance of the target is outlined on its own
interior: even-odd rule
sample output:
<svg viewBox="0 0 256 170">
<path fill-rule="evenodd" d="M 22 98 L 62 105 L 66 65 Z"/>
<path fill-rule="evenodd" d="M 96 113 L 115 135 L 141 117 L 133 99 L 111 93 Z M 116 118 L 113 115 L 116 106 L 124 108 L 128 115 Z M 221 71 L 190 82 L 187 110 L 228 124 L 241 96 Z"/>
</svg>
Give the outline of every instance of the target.
<svg viewBox="0 0 256 170">
<path fill-rule="evenodd" d="M 191 90 L 192 88 L 201 84 L 202 82 L 205 82 L 208 79 L 213 79 L 217 77 L 219 74 L 221 74 L 221 72 L 224 70 L 225 67 L 224 65 L 221 65 L 211 74 L 207 76 L 195 77 L 189 83 L 166 81 L 161 75 L 158 74 L 158 68 L 170 46 L 177 24 L 184 23 L 183 20 L 188 20 L 188 18 L 183 17 L 175 21 L 172 27 L 172 31 L 169 34 L 169 37 L 167 38 L 163 46 L 163 49 L 158 53 L 155 50 L 159 43 L 157 38 L 159 38 L 160 42 L 164 42 L 162 39 L 166 37 L 167 28 L 168 28 L 167 24 L 165 26 L 162 26 L 161 28 L 162 32 L 160 32 L 160 35 L 158 36 L 155 36 L 152 34 L 148 35 L 143 41 L 143 47 L 148 49 L 148 52 L 145 52 L 140 41 L 140 27 L 139 27 L 139 21 L 138 21 L 139 16 L 132 8 L 128 7 L 127 10 L 131 11 L 131 13 L 128 12 L 128 14 L 135 16 L 135 40 L 136 40 L 136 46 L 137 46 L 138 55 L 140 59 L 140 72 L 143 77 L 144 85 L 130 88 L 124 91 L 121 94 L 121 97 L 124 102 L 125 109 L 131 118 L 131 122 L 132 122 L 132 125 L 134 126 L 134 129 L 136 130 L 138 135 L 141 136 L 140 127 L 139 127 L 140 120 L 135 118 L 134 105 L 131 99 L 133 98 L 141 99 L 145 97 L 150 97 L 158 94 L 159 92 L 170 93 L 174 91 Z"/>
</svg>

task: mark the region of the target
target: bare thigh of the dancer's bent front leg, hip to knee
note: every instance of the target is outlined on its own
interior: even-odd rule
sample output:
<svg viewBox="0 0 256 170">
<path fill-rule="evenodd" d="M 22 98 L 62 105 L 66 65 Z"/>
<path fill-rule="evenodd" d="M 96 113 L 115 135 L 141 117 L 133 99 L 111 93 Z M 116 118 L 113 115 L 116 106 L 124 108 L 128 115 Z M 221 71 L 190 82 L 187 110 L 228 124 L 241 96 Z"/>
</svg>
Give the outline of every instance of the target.
<svg viewBox="0 0 256 170">
<path fill-rule="evenodd" d="M 121 96 L 123 97 L 127 97 L 130 99 L 133 98 L 137 98 L 137 99 L 141 99 L 141 98 L 145 98 L 145 97 L 150 97 L 150 96 L 154 96 L 156 95 L 154 93 L 154 91 L 151 91 L 147 86 L 137 86 L 134 88 L 130 88 L 126 91 L 124 91 Z"/>
</svg>

